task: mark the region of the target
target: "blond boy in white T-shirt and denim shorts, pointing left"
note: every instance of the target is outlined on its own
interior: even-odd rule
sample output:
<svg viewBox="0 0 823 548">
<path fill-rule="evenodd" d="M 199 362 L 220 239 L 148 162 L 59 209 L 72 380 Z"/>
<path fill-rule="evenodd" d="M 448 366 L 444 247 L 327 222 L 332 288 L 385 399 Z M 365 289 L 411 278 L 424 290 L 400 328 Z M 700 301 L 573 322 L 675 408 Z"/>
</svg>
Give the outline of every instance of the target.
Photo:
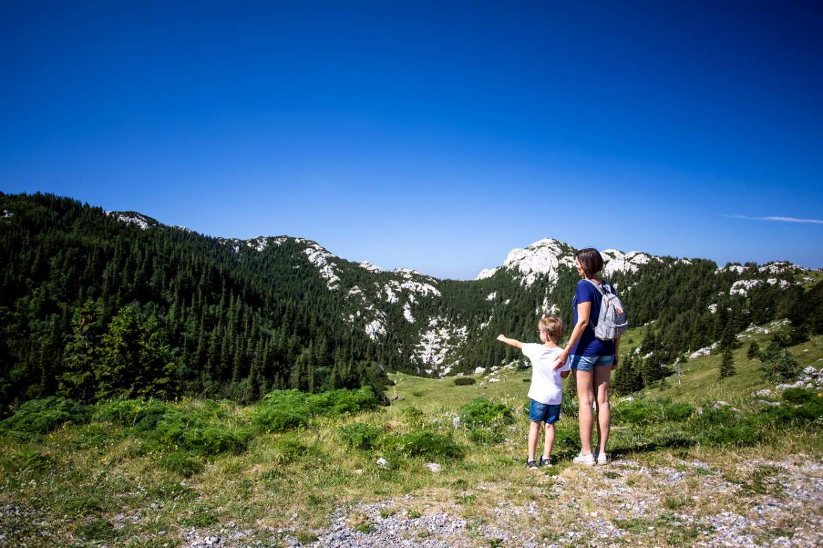
<svg viewBox="0 0 823 548">
<path fill-rule="evenodd" d="M 542 318 L 537 325 L 540 341 L 521 343 L 514 338 L 500 335 L 497 340 L 520 348 L 532 361 L 532 384 L 528 388 L 528 397 L 532 399 L 528 417 L 531 420 L 528 429 L 528 459 L 526 466 L 537 469 L 538 466 L 551 466 L 551 449 L 555 444 L 555 422 L 560 418 L 560 401 L 563 398 L 563 379 L 569 376 L 570 366 L 565 363 L 555 371 L 555 358 L 560 352 L 557 343 L 563 337 L 563 320 L 557 316 Z M 546 440 L 543 455 L 538 464 L 534 457 L 537 451 L 537 437 L 540 435 L 540 423 L 546 423 Z"/>
</svg>

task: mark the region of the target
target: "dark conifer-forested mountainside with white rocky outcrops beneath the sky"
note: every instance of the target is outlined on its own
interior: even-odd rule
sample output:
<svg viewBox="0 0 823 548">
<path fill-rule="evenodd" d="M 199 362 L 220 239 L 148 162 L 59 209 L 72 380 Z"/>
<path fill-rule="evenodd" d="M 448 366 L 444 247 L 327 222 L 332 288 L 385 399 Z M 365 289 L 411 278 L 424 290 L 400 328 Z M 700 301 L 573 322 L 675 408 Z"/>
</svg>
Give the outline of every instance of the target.
<svg viewBox="0 0 823 548">
<path fill-rule="evenodd" d="M 51 195 L 0 194 L 0 210 L 3 403 L 49 394 L 249 402 L 270 389 L 380 391 L 383 371 L 490 369 L 516 357 L 496 334 L 529 338 L 547 313 L 570 323 L 579 280 L 574 247 L 551 238 L 457 281 L 386 272 L 300 237 L 205 237 Z M 654 326 L 634 337 L 646 384 L 749 325 L 789 318 L 823 331 L 819 272 L 603 256 L 632 325 Z"/>
</svg>

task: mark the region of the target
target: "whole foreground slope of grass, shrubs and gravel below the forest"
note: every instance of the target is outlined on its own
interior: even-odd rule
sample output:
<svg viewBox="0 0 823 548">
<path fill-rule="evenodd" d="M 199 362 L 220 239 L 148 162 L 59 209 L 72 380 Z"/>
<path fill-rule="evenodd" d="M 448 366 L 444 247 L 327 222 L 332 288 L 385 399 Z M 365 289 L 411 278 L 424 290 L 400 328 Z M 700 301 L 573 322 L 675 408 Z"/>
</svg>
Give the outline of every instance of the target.
<svg viewBox="0 0 823 548">
<path fill-rule="evenodd" d="M 128 419 L 151 416 L 151 403 L 99 404 L 91 421 L 45 435 L 0 428 L 0 541 L 819 546 L 821 419 L 802 418 L 805 408 L 776 392 L 765 400 L 777 407 L 752 395 L 774 385 L 760 361 L 744 359 L 747 337 L 765 347 L 773 329 L 788 332 L 765 329 L 743 334 L 737 375 L 719 381 L 718 357 L 701 356 L 687 363 L 679 387 L 670 377 L 663 391 L 615 398 L 613 460 L 603 467 L 570 463 L 579 449 L 574 417 L 560 420 L 554 467 L 523 467 L 530 371 L 516 366 L 466 386 L 393 374 L 388 394 L 402 399 L 390 408 L 311 418 L 216 452 L 182 439 L 158 445 L 150 426 Z M 823 337 L 789 350 L 800 366 L 823 371 Z M 477 397 L 490 403 L 463 407 Z M 238 433 L 268 417 L 261 412 L 271 404 L 184 400 L 162 412 L 184 412 L 190 428 L 208 420 Z M 815 409 L 823 416 L 823 406 Z"/>
</svg>

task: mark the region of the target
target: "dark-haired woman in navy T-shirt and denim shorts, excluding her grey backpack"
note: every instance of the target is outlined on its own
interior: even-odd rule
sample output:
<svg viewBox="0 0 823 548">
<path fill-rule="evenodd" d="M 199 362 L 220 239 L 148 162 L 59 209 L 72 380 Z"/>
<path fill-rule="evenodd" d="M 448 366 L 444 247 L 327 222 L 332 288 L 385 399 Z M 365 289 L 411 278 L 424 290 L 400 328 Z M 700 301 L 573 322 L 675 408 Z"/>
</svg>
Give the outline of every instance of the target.
<svg viewBox="0 0 823 548">
<path fill-rule="evenodd" d="M 597 325 L 600 314 L 601 294 L 597 288 L 615 292 L 598 277 L 603 268 L 602 256 L 593 247 L 581 249 L 574 256 L 574 265 L 583 278 L 578 282 L 571 302 L 574 330 L 556 363 L 561 366 L 570 358 L 577 382 L 581 450 L 574 462 L 593 466 L 607 463 L 606 443 L 611 425 L 609 381 L 611 370 L 617 366 L 620 338 L 602 341 L 594 336 L 591 325 L 592 322 Z M 597 408 L 597 453 L 592 451 L 592 403 Z"/>
</svg>

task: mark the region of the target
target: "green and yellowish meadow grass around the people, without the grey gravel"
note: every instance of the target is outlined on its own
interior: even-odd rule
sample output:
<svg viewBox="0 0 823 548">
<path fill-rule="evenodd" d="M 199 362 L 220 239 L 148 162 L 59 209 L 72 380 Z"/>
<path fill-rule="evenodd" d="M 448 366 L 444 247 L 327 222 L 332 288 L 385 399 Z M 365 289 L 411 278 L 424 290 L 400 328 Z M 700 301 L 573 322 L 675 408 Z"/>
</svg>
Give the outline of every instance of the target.
<svg viewBox="0 0 823 548">
<path fill-rule="evenodd" d="M 771 334 L 754 337 L 765 348 Z M 759 361 L 746 360 L 748 339 L 742 342 L 734 352 L 733 377 L 718 380 L 719 357 L 701 357 L 686 364 L 681 385 L 670 379 L 667 389 L 635 394 L 642 396 L 637 403 L 616 401 L 612 456 L 649 469 L 706 463 L 684 467 L 682 489 L 664 489 L 639 469 L 618 473 L 573 467 L 569 459 L 579 450 L 574 417 L 557 424 L 556 466 L 542 474 L 525 470 L 528 384 L 523 379 L 528 370 L 500 371 L 495 373 L 500 382 L 491 384 L 481 375 L 477 384 L 460 386 L 449 378 L 398 374 L 391 375 L 397 382 L 392 389 L 405 399 L 390 408 L 350 406 L 335 397 L 326 403 L 337 412 L 309 412 L 299 420 L 288 416 L 283 400 L 258 406 L 197 400 L 116 403 L 95 406 L 89 415 L 82 411 L 80 421 L 64 420 L 63 412 L 45 423 L 29 417 L 34 433 L 0 432 L 0 508 L 12 505 L 19 512 L 19 518 L 2 514 L 4 541 L 8 546 L 180 546 L 187 527 L 218 530 L 233 521 L 238 528 L 258 531 L 249 543 L 277 545 L 283 543 L 277 529 L 308 541 L 328 527 L 328 514 L 360 501 L 395 500 L 391 509 L 380 510 L 381 518 L 397 512 L 413 520 L 450 509 L 470 516 L 470 523 L 497 523 L 500 504 L 535 501 L 560 508 L 570 504 L 570 486 L 576 484 L 587 490 L 574 494 L 575 504 L 597 511 L 589 491 L 620 482 L 655 494 L 663 513 L 645 521 L 607 516 L 616 527 L 630 538 L 654 538 L 660 546 L 688 545 L 703 532 L 673 525 L 673 514 L 716 512 L 722 504 L 744 508 L 756 497 L 780 496 L 773 468 L 742 471 L 738 461 L 779 460 L 823 449 L 818 425 L 774 425 L 753 403 L 749 394 L 770 385 L 762 380 Z M 802 366 L 819 367 L 823 338 L 791 351 Z M 711 404 L 721 399 L 739 412 L 714 410 Z M 798 406 L 808 405 L 805 401 L 797 396 Z M 455 427 L 458 416 L 469 420 Z M 200 438 L 191 438 L 186 426 Z M 215 429 L 211 437 L 204 434 L 209 428 Z M 226 432 L 242 446 L 221 445 Z M 379 458 L 386 458 L 388 466 L 378 466 Z M 425 469 L 432 461 L 441 472 Z M 739 486 L 739 500 L 713 493 L 717 481 Z M 412 499 L 400 502 L 407 494 Z M 539 526 L 560 539 L 574 527 L 564 515 L 542 513 L 538 523 L 523 513 L 506 526 Z M 369 530 L 372 519 L 360 516 L 352 527 Z M 491 546 L 494 540 L 478 536 L 478 542 Z"/>
</svg>

